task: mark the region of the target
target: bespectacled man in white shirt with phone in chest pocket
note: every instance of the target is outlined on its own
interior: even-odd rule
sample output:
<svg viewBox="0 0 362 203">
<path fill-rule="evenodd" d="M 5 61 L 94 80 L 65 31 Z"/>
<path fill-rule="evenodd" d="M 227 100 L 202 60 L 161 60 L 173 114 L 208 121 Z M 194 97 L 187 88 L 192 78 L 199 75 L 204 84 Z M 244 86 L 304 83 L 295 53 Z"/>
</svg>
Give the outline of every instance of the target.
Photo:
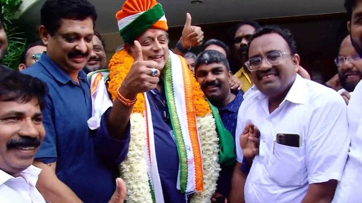
<svg viewBox="0 0 362 203">
<path fill-rule="evenodd" d="M 331 202 L 349 147 L 343 99 L 297 74 L 288 30 L 257 29 L 248 56 L 258 90 L 241 104 L 236 127 L 237 161 L 251 166 L 240 186 L 245 202 Z"/>
</svg>

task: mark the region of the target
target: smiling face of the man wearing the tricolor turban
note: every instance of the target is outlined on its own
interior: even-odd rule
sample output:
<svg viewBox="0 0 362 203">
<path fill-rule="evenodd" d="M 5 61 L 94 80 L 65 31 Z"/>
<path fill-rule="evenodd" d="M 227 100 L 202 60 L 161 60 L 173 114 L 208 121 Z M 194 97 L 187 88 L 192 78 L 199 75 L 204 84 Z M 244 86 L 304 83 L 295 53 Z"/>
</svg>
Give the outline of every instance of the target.
<svg viewBox="0 0 362 203">
<path fill-rule="evenodd" d="M 168 59 L 168 35 L 164 30 L 148 29 L 141 36 L 136 38 L 141 44 L 143 60 L 156 61 L 162 69 Z M 131 48 L 131 55 L 135 57 L 134 47 Z"/>
</svg>

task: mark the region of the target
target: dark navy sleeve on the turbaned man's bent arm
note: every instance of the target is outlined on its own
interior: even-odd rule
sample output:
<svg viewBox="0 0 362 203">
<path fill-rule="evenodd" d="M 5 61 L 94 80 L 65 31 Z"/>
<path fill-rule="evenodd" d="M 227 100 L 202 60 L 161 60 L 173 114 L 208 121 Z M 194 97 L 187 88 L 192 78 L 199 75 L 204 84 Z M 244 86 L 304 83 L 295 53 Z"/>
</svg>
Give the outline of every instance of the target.
<svg viewBox="0 0 362 203">
<path fill-rule="evenodd" d="M 131 124 L 128 122 L 126 136 L 123 140 L 117 140 L 110 137 L 107 129 L 107 121 L 111 107 L 102 115 L 101 126 L 99 127 L 96 138 L 95 148 L 98 155 L 111 164 L 120 164 L 126 159 L 131 137 Z"/>
</svg>

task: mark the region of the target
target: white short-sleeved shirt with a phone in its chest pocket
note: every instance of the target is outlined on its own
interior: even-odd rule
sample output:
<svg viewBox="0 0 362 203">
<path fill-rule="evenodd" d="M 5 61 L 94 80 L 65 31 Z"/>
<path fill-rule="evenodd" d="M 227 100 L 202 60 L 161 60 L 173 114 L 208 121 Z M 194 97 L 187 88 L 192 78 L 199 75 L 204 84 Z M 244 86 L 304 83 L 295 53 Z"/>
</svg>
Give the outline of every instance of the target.
<svg viewBox="0 0 362 203">
<path fill-rule="evenodd" d="M 236 134 L 251 122 L 260 130 L 260 146 L 245 183 L 245 202 L 300 203 L 308 184 L 340 180 L 349 147 L 346 108 L 336 91 L 299 75 L 272 113 L 260 91 L 248 95 L 239 109 Z M 279 133 L 298 134 L 301 146 L 276 143 Z M 239 141 L 236 136 L 237 161 L 242 163 Z"/>
</svg>

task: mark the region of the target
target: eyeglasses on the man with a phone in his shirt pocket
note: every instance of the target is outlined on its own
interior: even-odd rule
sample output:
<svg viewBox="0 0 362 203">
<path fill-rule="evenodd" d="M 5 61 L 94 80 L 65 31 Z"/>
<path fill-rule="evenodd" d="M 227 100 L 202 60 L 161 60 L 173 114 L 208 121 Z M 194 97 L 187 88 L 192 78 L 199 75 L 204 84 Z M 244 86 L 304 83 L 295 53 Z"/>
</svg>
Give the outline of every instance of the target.
<svg viewBox="0 0 362 203">
<path fill-rule="evenodd" d="M 262 64 L 263 58 L 265 58 L 266 62 L 268 62 L 268 64 L 270 65 L 279 65 L 281 64 L 281 59 L 283 55 L 290 55 L 290 53 L 288 52 L 278 52 L 278 51 L 273 51 L 270 53 L 267 53 L 266 55 L 263 56 L 258 56 L 258 57 L 253 57 L 251 59 L 249 59 L 247 62 L 245 62 L 245 66 L 247 66 L 247 68 L 250 71 L 256 71 L 259 70 L 260 65 Z"/>
</svg>

